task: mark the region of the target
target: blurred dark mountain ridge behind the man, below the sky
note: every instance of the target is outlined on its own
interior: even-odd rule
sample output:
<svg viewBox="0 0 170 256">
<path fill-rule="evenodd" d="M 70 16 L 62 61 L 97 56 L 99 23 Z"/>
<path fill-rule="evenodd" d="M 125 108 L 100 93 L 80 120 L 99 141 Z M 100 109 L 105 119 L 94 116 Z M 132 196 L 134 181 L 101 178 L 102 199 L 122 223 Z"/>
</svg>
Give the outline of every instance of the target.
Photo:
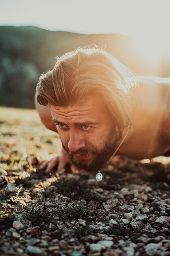
<svg viewBox="0 0 170 256">
<path fill-rule="evenodd" d="M 42 72 L 54 67 L 55 56 L 95 43 L 138 75 L 170 76 L 169 58 L 146 60 L 132 38 L 120 34 L 85 35 L 37 27 L 0 27 L 0 105 L 34 108 L 34 93 Z M 161 60 L 162 61 L 162 60 Z"/>
</svg>

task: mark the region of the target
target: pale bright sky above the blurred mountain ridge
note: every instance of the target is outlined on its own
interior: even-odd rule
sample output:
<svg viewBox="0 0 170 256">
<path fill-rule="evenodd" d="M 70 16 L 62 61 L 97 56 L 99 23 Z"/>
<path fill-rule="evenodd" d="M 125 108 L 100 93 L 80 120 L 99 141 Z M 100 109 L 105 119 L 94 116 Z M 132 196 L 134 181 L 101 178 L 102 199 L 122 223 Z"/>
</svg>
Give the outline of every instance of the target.
<svg viewBox="0 0 170 256">
<path fill-rule="evenodd" d="M 169 51 L 170 0 L 0 0 L 2 25 L 118 33 Z"/>
</svg>

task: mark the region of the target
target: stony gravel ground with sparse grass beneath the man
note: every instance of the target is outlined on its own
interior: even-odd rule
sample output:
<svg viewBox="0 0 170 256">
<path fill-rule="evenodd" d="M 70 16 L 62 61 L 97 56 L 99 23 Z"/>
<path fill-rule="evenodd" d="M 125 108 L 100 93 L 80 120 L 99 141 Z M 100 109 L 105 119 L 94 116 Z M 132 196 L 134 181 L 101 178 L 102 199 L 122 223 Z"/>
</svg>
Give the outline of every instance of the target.
<svg viewBox="0 0 170 256">
<path fill-rule="evenodd" d="M 57 135 L 33 110 L 4 111 L 1 256 L 170 256 L 170 157 L 115 156 L 101 182 L 69 166 L 46 174 L 39 156 L 56 152 Z"/>
</svg>

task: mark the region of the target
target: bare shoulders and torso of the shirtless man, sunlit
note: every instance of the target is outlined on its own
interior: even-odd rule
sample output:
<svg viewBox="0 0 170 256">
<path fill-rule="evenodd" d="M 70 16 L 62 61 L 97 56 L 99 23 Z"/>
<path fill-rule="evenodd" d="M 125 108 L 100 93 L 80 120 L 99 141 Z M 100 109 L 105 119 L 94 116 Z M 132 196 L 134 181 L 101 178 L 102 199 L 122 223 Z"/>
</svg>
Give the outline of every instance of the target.
<svg viewBox="0 0 170 256">
<path fill-rule="evenodd" d="M 136 76 L 135 80 L 138 85 L 131 91 L 132 126 L 116 154 L 133 159 L 163 155 L 170 150 L 170 78 Z M 57 131 L 49 106 L 36 101 L 35 105 L 44 125 Z"/>
</svg>

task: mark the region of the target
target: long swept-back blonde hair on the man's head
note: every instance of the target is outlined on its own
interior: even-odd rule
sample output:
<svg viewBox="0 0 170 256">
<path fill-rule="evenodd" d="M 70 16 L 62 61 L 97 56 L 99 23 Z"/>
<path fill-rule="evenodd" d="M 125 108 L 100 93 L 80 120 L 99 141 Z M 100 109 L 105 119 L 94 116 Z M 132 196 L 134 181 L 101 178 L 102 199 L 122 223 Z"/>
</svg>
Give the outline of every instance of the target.
<svg viewBox="0 0 170 256">
<path fill-rule="evenodd" d="M 41 105 L 69 106 L 100 95 L 118 128 L 119 139 L 124 128 L 131 126 L 129 79 L 134 73 L 111 54 L 96 45 L 79 47 L 57 57 L 53 70 L 42 74 L 36 87 Z"/>
</svg>

